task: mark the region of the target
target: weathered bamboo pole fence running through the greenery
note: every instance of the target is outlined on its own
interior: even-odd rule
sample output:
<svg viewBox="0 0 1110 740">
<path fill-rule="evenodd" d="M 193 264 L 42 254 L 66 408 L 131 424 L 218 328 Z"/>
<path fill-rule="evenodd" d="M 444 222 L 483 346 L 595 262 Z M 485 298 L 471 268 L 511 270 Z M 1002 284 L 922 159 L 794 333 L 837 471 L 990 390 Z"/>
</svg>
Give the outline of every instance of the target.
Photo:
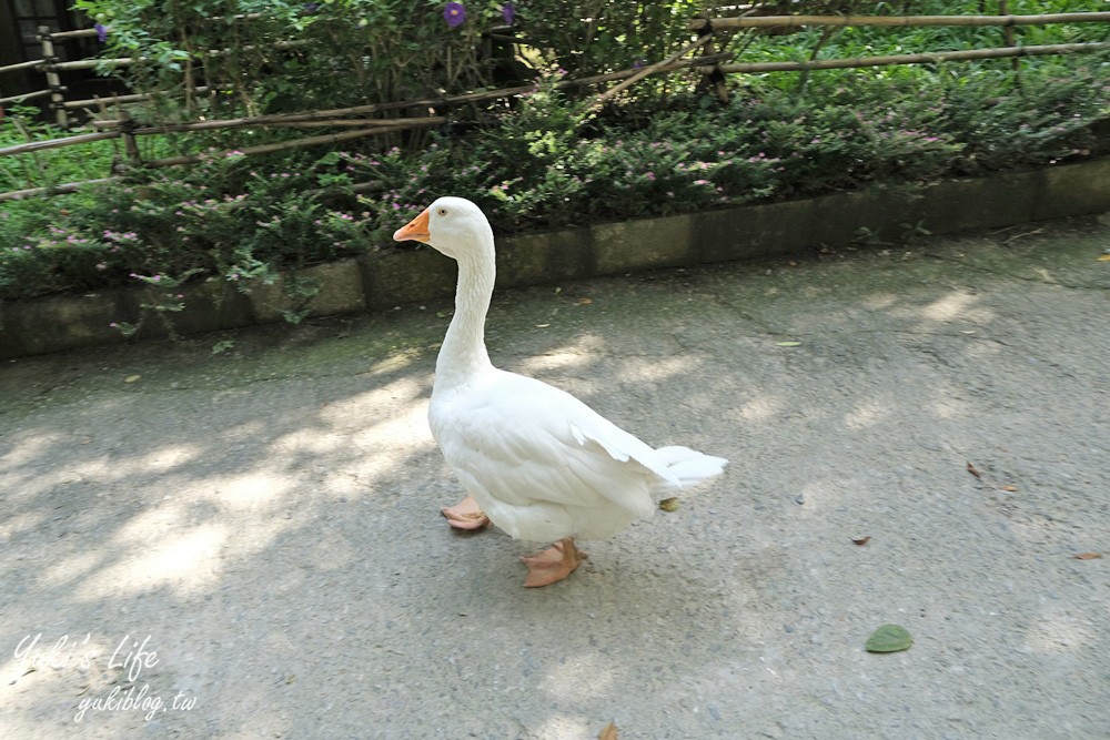
<svg viewBox="0 0 1110 740">
<path fill-rule="evenodd" d="M 1001 8 L 1005 11 L 1006 0 L 1001 0 Z M 249 17 L 244 18 L 250 19 Z M 1092 23 L 1092 22 L 1110 22 L 1110 12 L 1051 13 L 1041 16 L 1012 16 L 1012 14 L 899 16 L 899 17 L 896 16 L 760 16 L 760 17 L 741 16 L 737 18 L 712 18 L 712 19 L 703 18 L 690 21 L 690 28 L 693 30 L 699 31 L 699 37 L 696 40 L 683 47 L 680 50 L 678 50 L 667 59 L 664 59 L 663 61 L 649 64 L 644 68 L 620 70 L 616 72 L 609 72 L 606 74 L 598 74 L 594 77 L 581 78 L 575 80 L 561 80 L 556 83 L 556 87 L 565 89 L 572 87 L 591 87 L 591 85 L 615 82 L 616 84 L 609 87 L 608 89 L 595 95 L 585 105 L 584 111 L 592 112 L 599 109 L 606 101 L 610 100 L 614 95 L 618 94 L 623 90 L 626 90 L 630 85 L 635 84 L 636 82 L 649 75 L 674 72 L 678 70 L 694 70 L 698 73 L 710 75 L 710 79 L 713 79 L 712 75 L 717 75 L 719 79 L 720 74 L 751 74 L 751 73 L 765 73 L 765 72 L 808 72 L 810 70 L 849 69 L 849 68 L 866 68 L 866 67 L 881 67 L 881 65 L 897 65 L 897 64 L 944 63 L 950 61 L 971 61 L 971 60 L 1005 59 L 1005 58 L 1011 58 L 1015 59 L 1016 61 L 1021 57 L 1083 53 L 1083 52 L 1096 52 L 1110 49 L 1110 42 L 1086 42 L 1086 43 L 1063 43 L 1063 44 L 1043 44 L 1043 45 L 1016 45 L 1013 43 L 1012 29 L 1018 26 L 1035 26 L 1035 24 L 1041 26 L 1041 24 L 1053 24 L 1053 23 Z M 854 59 L 818 60 L 811 58 L 809 61 L 780 61 L 780 62 L 755 62 L 755 63 L 724 63 L 728 59 L 730 59 L 733 54 L 728 52 L 714 52 L 715 48 L 714 38 L 715 34 L 719 31 L 735 31 L 738 29 L 784 28 L 784 27 L 800 28 L 806 26 L 821 26 L 827 28 L 927 27 L 927 26 L 1000 27 L 1007 30 L 1007 36 L 1006 36 L 1007 45 L 998 48 L 987 48 L 987 49 L 969 49 L 969 50 L 945 51 L 945 52 L 921 52 L 915 54 L 862 57 Z M 61 33 L 47 33 L 44 29 L 40 29 L 40 31 L 42 31 L 41 38 L 43 43 L 44 60 L 52 59 L 53 52 L 52 52 L 52 45 L 50 44 L 52 44 L 54 40 L 80 37 L 80 36 L 92 36 L 95 33 L 95 31 L 92 29 L 67 31 Z M 286 45 L 295 45 L 295 42 L 290 42 Z M 688 53 L 698 48 L 702 48 L 705 53 L 695 58 L 683 59 Z M 222 51 L 218 50 L 211 53 L 225 53 L 225 52 L 226 50 Z M 816 57 L 816 54 L 814 55 Z M 108 139 L 122 139 L 124 141 L 125 150 L 128 153 L 128 160 L 130 161 L 132 166 L 164 168 L 164 166 L 188 165 L 188 164 L 195 164 L 209 159 L 228 156 L 233 152 L 250 156 L 255 154 L 284 151 L 301 146 L 314 146 L 320 144 L 339 143 L 343 141 L 351 141 L 354 139 L 372 136 L 382 133 L 395 133 L 400 131 L 408 131 L 420 128 L 445 125 L 448 123 L 448 119 L 446 115 L 442 114 L 436 114 L 436 115 L 430 114 L 421 118 L 384 118 L 384 119 L 369 119 L 360 116 L 369 116 L 369 115 L 387 113 L 390 111 L 406 110 L 406 109 L 408 110 L 436 109 L 437 111 L 442 112 L 443 109 L 447 109 L 455 105 L 481 102 L 486 100 L 513 98 L 517 95 L 528 94 L 536 90 L 535 84 L 528 84 L 528 85 L 503 88 L 498 90 L 468 92 L 456 95 L 443 95 L 437 98 L 423 98 L 417 100 L 395 101 L 386 103 L 372 103 L 366 105 L 356 105 L 343 109 L 306 111 L 301 113 L 284 113 L 274 115 L 260 115 L 260 116 L 228 119 L 228 120 L 195 121 L 190 123 L 174 123 L 174 124 L 165 124 L 157 126 L 137 126 L 134 122 L 130 120 L 130 116 L 127 114 L 127 111 L 122 108 L 122 103 L 147 101 L 151 100 L 157 95 L 164 95 L 170 93 L 160 92 L 152 94 L 117 95 L 111 101 L 105 101 L 103 99 L 92 99 L 92 100 L 65 102 L 64 100 L 61 99 L 62 88 L 58 81 L 58 74 L 57 74 L 59 70 L 89 69 L 100 64 L 130 64 L 134 63 L 135 61 L 134 59 L 123 58 L 123 59 L 83 60 L 75 62 L 53 62 L 53 63 L 47 62 L 44 60 L 36 60 L 30 62 L 22 62 L 20 64 L 0 67 L 0 73 L 7 71 L 13 71 L 17 69 L 31 69 L 31 68 L 42 69 L 46 72 L 48 82 L 50 84 L 49 90 L 36 91 L 26 93 L 23 95 L 0 99 L 0 104 L 16 100 L 23 101 L 23 100 L 30 100 L 32 98 L 50 95 L 52 107 L 54 108 L 58 114 L 58 120 L 62 125 L 64 125 L 67 110 L 89 108 L 90 105 L 95 104 L 100 107 L 101 111 L 104 111 L 105 103 L 110 102 L 111 104 L 114 104 L 117 107 L 117 110 L 119 111 L 118 118 L 92 121 L 92 126 L 97 129 L 102 129 L 102 131 L 79 134 L 74 136 L 65 136 L 62 139 L 54 139 L 50 141 L 28 142 L 26 144 L 7 146 L 0 149 L 0 156 L 27 154 L 31 152 L 57 149 L 62 146 L 79 145 Z M 199 93 L 202 91 L 206 92 L 208 88 L 198 88 L 193 92 Z M 718 95 L 724 95 L 722 90 L 718 90 Z M 139 156 L 137 136 L 168 134 L 168 133 L 186 133 L 186 132 L 198 132 L 198 131 L 233 130 L 243 128 L 268 128 L 268 126 L 289 126 L 297 129 L 333 126 L 333 128 L 349 128 L 353 130 L 343 131 L 339 133 L 327 133 L 314 136 L 305 136 L 291 141 L 262 144 L 258 146 L 248 146 L 239 150 L 210 152 L 204 154 L 164 158 L 164 159 L 155 159 L 149 161 L 142 161 Z M 121 180 L 121 176 L 114 175 L 114 176 L 100 178 L 83 182 L 64 183 L 47 187 L 30 187 L 9 193 L 0 193 L 0 201 L 14 200 L 31 195 L 74 192 L 85 185 L 114 182 L 119 180 Z M 360 185 L 356 185 L 356 187 L 363 190 L 373 189 L 376 186 L 380 186 L 380 183 L 361 183 Z"/>
</svg>

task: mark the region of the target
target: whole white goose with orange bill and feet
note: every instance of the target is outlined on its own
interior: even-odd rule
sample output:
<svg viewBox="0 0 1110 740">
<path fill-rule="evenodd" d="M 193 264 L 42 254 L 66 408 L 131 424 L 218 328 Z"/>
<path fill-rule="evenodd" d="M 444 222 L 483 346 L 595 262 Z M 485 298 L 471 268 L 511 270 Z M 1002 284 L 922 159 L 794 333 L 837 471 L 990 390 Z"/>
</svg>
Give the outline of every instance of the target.
<svg viewBox="0 0 1110 740">
<path fill-rule="evenodd" d="M 655 510 L 653 497 L 722 473 L 727 460 L 687 447 L 652 449 L 574 396 L 497 369 L 485 347 L 495 264 L 490 222 L 472 202 L 441 197 L 393 234 L 458 263 L 455 315 L 435 364 L 432 436 L 470 496 L 444 515 L 453 527 L 492 520 L 515 539 L 555 545 L 522 558 L 525 586 L 566 578 L 604 539 Z M 486 519 L 488 516 L 488 520 Z"/>
</svg>

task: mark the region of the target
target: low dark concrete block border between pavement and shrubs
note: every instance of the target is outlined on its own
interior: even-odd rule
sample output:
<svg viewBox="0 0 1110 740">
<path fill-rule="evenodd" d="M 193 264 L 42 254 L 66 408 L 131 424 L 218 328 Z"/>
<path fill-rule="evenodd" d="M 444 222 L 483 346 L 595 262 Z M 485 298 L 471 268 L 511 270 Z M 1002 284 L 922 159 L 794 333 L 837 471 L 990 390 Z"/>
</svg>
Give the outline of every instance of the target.
<svg viewBox="0 0 1110 740">
<path fill-rule="evenodd" d="M 593 275 L 813 252 L 850 243 L 861 227 L 890 237 L 906 225 L 934 234 L 996 229 L 1110 211 L 1110 159 L 952 180 L 910 196 L 834 193 L 705 213 L 643 219 L 498 240 L 501 287 Z M 301 271 L 320 285 L 310 315 L 325 316 L 451 297 L 455 266 L 431 250 L 392 250 Z M 281 321 L 279 285 L 243 294 L 210 280 L 186 285 L 179 334 Z M 0 358 L 125 341 L 111 327 L 138 322 L 141 290 L 102 291 L 0 304 Z M 148 320 L 139 338 L 167 335 Z"/>
</svg>

